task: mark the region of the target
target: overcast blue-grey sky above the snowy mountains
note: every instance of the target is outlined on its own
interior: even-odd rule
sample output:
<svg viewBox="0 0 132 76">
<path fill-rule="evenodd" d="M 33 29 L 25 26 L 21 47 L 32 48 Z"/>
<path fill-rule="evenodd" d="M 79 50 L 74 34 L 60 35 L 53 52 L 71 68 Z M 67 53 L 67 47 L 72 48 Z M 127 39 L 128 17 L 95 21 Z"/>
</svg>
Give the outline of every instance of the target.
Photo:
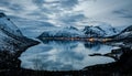
<svg viewBox="0 0 132 76">
<path fill-rule="evenodd" d="M 132 0 L 0 0 L 8 15 L 55 25 L 132 24 Z"/>
</svg>

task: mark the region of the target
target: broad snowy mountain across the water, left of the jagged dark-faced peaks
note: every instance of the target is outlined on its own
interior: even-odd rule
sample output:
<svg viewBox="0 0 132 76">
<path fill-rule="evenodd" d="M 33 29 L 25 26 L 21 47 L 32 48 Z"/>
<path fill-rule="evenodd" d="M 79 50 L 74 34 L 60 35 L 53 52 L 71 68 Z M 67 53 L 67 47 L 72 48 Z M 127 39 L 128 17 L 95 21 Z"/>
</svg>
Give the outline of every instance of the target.
<svg viewBox="0 0 132 76">
<path fill-rule="evenodd" d="M 75 37 L 84 36 L 84 33 L 74 26 L 54 28 L 54 30 L 44 31 L 38 37 Z"/>
</svg>

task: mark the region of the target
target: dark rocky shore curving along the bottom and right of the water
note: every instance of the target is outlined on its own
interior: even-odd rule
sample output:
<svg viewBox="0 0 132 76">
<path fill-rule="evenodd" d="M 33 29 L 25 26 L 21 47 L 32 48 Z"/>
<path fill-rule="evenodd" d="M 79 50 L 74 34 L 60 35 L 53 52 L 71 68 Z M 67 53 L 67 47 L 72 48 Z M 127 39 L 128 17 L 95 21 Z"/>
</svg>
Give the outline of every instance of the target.
<svg viewBox="0 0 132 76">
<path fill-rule="evenodd" d="M 132 50 L 130 47 L 121 50 L 122 55 L 117 62 L 88 66 L 80 70 L 48 72 L 18 67 L 0 69 L 0 76 L 132 76 Z"/>
</svg>

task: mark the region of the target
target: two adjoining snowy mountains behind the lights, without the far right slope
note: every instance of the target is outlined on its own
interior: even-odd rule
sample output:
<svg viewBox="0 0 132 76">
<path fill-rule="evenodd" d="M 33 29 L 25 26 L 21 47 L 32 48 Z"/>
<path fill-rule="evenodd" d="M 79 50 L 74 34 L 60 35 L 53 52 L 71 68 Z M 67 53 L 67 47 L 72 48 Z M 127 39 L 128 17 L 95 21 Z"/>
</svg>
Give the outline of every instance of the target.
<svg viewBox="0 0 132 76">
<path fill-rule="evenodd" d="M 44 31 L 38 37 L 107 37 L 118 33 L 119 31 L 111 25 L 85 26 L 82 31 L 66 26 Z"/>
</svg>

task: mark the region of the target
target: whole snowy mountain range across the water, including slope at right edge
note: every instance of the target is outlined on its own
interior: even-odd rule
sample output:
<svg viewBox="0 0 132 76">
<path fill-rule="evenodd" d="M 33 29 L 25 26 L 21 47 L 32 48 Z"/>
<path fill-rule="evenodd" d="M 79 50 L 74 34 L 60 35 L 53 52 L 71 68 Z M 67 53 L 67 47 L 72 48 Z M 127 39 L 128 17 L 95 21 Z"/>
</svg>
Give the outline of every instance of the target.
<svg viewBox="0 0 132 76">
<path fill-rule="evenodd" d="M 54 30 L 44 31 L 38 39 L 43 37 L 95 37 L 95 39 L 112 39 L 113 41 L 132 41 L 132 25 L 123 29 L 122 31 L 116 28 L 105 25 L 90 25 L 78 30 L 74 26 L 56 28 Z"/>
</svg>

